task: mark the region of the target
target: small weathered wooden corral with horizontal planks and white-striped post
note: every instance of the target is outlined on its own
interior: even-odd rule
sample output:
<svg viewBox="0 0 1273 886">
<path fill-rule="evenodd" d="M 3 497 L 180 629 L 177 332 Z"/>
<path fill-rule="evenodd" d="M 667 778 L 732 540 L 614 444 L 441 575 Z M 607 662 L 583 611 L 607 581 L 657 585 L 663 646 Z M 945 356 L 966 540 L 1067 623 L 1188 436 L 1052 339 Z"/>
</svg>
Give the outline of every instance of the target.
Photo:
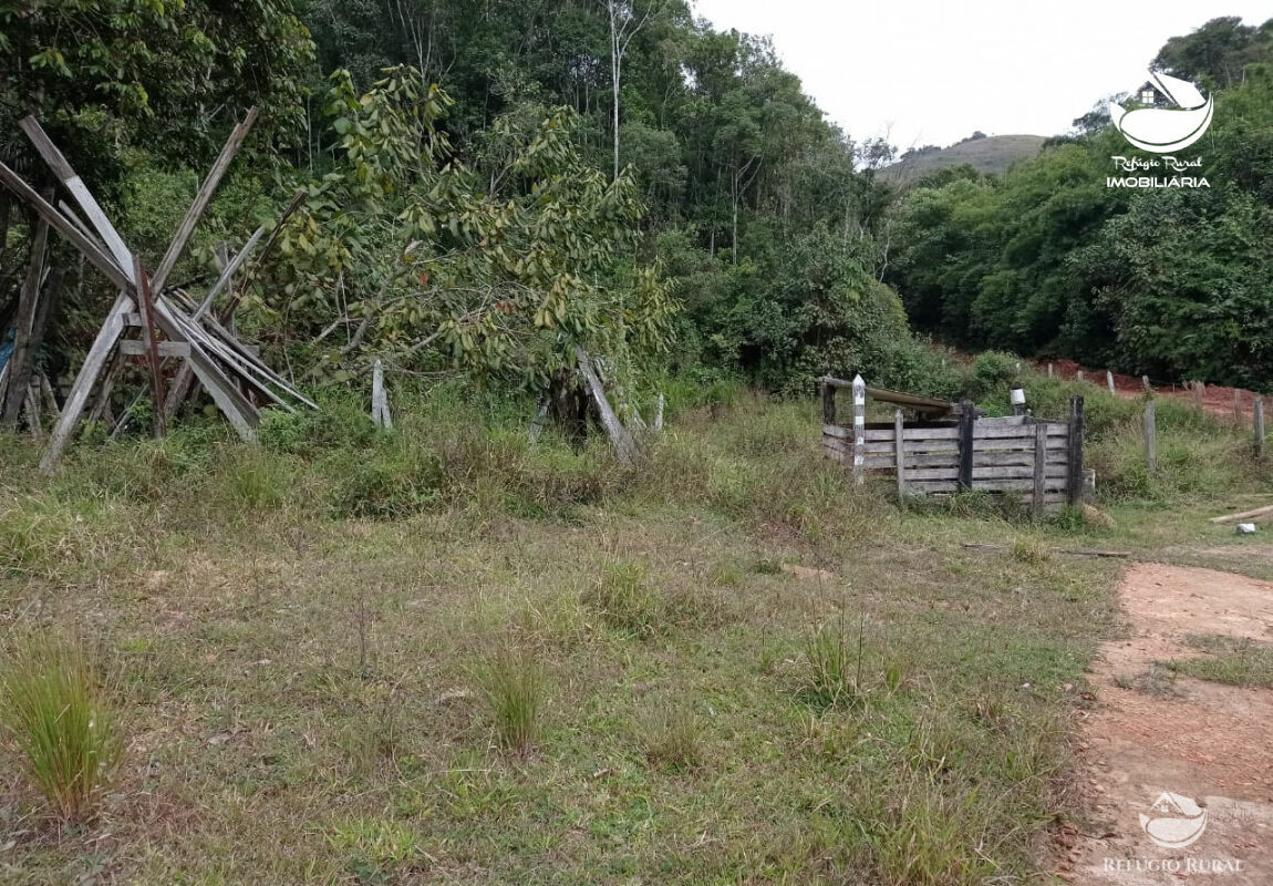
<svg viewBox="0 0 1273 886">
<path fill-rule="evenodd" d="M 822 452 L 850 466 L 858 481 L 892 476 L 899 495 L 943 495 L 960 490 L 1020 495 L 1035 512 L 1083 498 L 1083 404 L 1071 402 L 1068 421 L 1013 415 L 983 418 L 971 402 L 869 388 L 862 377 L 845 382 L 825 377 L 822 387 Z M 839 424 L 835 392 L 854 395 L 853 423 Z M 867 397 L 910 409 L 924 418 L 866 421 Z M 917 410 L 918 411 L 918 410 Z M 951 418 L 931 418 L 946 415 Z"/>
</svg>

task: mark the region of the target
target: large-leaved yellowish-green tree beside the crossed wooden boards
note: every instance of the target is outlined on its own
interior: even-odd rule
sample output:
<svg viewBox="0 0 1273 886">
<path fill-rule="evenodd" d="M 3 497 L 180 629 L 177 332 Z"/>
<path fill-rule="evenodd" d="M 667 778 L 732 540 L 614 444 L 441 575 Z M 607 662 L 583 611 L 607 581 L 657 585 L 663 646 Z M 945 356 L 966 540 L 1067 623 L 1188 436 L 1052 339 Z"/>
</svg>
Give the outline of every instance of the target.
<svg viewBox="0 0 1273 886">
<path fill-rule="evenodd" d="M 280 238 L 260 307 L 314 334 L 348 311 L 355 337 L 317 354 L 336 381 L 376 355 L 545 387 L 577 345 L 616 365 L 666 349 L 667 286 L 620 261 L 635 183 L 583 163 L 573 112 L 499 118 L 467 164 L 438 125 L 453 102 L 418 71 L 360 97 L 348 73 L 332 83 L 340 159 Z"/>
</svg>

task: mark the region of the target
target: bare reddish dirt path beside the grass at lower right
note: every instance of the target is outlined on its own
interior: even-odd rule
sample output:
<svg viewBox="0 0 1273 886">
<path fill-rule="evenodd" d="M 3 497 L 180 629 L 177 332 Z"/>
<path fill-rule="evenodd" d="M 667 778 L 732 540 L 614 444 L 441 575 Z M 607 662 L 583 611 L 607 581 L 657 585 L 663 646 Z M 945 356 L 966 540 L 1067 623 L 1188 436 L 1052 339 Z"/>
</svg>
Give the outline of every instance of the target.
<svg viewBox="0 0 1273 886">
<path fill-rule="evenodd" d="M 1106 643 L 1094 663 L 1099 701 L 1081 731 L 1096 830 L 1063 839 L 1058 877 L 1085 886 L 1273 883 L 1273 691 L 1171 681 L 1155 667 L 1203 654 L 1185 643 L 1189 634 L 1273 640 L 1273 583 L 1138 564 L 1120 596 L 1130 636 Z M 1164 848 L 1143 821 L 1166 841 L 1198 836 Z"/>
</svg>

